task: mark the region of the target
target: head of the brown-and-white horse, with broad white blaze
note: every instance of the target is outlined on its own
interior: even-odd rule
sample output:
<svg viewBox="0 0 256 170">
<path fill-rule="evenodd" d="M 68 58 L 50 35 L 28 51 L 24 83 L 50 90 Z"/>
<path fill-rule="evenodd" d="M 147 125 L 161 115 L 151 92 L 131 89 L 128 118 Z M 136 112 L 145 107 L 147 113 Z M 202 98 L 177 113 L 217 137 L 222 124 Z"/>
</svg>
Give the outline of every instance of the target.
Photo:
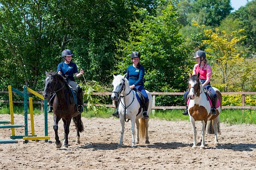
<svg viewBox="0 0 256 170">
<path fill-rule="evenodd" d="M 200 95 L 201 82 L 199 81 L 199 76 L 199 73 L 197 75 L 192 75 L 189 73 L 189 98 L 192 100 L 195 99 L 195 96 Z"/>
</svg>

